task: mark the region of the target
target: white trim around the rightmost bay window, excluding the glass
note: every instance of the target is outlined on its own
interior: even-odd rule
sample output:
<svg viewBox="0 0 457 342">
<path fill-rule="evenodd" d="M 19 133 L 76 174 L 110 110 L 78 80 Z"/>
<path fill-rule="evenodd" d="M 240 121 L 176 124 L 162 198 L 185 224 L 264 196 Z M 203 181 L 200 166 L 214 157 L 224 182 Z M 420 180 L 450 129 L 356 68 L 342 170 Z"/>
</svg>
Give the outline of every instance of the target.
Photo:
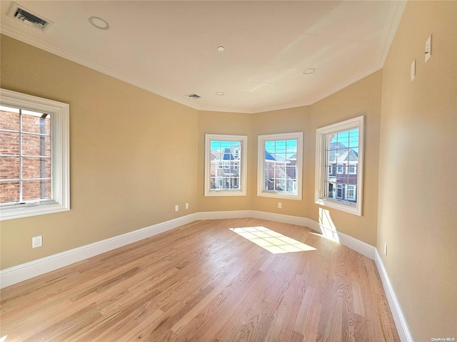
<svg viewBox="0 0 457 342">
<path fill-rule="evenodd" d="M 357 203 L 355 206 L 350 205 L 337 199 L 324 197 L 324 173 L 325 170 L 325 156 L 324 150 L 326 147 L 325 137 L 327 134 L 338 133 L 342 130 L 351 130 L 358 128 L 358 170 L 357 170 Z M 361 115 L 357 118 L 342 121 L 341 123 L 334 123 L 323 128 L 316 130 L 316 180 L 314 187 L 314 202 L 322 205 L 323 207 L 330 207 L 338 209 L 343 212 L 356 214 L 362 216 L 363 207 L 363 145 L 364 145 L 364 131 L 365 131 L 365 116 Z"/>
</svg>

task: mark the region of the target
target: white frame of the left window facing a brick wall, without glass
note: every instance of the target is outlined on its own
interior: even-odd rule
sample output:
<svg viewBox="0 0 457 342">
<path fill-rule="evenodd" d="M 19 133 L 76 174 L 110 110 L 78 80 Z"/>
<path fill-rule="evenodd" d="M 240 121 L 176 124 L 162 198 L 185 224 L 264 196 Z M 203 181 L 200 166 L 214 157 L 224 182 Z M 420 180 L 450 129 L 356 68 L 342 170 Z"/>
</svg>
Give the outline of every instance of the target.
<svg viewBox="0 0 457 342">
<path fill-rule="evenodd" d="M 0 103 L 51 115 L 51 200 L 2 204 L 0 219 L 19 219 L 70 209 L 70 106 L 46 98 L 0 89 Z"/>
</svg>

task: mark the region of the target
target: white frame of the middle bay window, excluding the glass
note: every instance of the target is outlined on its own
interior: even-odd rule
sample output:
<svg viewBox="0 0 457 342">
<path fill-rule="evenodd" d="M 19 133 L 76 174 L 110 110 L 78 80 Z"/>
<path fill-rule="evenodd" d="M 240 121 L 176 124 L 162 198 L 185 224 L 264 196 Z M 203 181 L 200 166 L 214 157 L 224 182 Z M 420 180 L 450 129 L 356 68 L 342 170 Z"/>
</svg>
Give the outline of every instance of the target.
<svg viewBox="0 0 457 342">
<path fill-rule="evenodd" d="M 271 140 L 297 140 L 297 175 L 296 175 L 296 194 L 293 192 L 283 192 L 275 190 L 264 190 L 263 182 L 265 182 L 265 142 Z M 280 133 L 258 135 L 258 161 L 257 161 L 257 196 L 260 197 L 275 197 L 282 199 L 298 199 L 302 198 L 302 175 L 303 172 L 303 132 L 295 133 Z"/>
</svg>

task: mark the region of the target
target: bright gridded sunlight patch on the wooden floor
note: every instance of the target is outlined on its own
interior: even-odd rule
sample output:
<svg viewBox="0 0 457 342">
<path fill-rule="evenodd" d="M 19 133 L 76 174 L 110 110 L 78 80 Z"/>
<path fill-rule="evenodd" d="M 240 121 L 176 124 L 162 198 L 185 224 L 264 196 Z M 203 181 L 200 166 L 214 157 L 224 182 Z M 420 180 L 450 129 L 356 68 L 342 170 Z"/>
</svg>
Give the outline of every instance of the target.
<svg viewBox="0 0 457 342">
<path fill-rule="evenodd" d="M 273 254 L 316 250 L 314 247 L 265 227 L 230 228 L 230 230 Z"/>
</svg>

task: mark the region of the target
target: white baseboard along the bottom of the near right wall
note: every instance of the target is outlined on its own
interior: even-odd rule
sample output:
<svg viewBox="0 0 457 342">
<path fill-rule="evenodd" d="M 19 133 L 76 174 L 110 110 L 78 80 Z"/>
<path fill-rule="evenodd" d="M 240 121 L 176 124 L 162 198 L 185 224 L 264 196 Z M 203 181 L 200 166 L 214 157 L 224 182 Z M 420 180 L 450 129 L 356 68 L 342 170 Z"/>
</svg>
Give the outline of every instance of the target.
<svg viewBox="0 0 457 342">
<path fill-rule="evenodd" d="M 387 271 L 384 268 L 383 261 L 381 260 L 378 249 L 375 250 L 375 254 L 376 257 L 374 261 L 376 263 L 376 267 L 378 268 L 379 276 L 381 276 L 381 281 L 383 282 L 388 305 L 391 307 L 393 321 L 395 321 L 395 326 L 398 331 L 398 336 L 400 336 L 400 341 L 414 342 L 413 337 L 411 336 L 411 332 L 409 331 L 406 318 L 403 315 L 403 310 L 401 309 L 400 303 L 398 302 L 395 291 L 393 291 L 391 281 L 388 279 Z"/>
</svg>

